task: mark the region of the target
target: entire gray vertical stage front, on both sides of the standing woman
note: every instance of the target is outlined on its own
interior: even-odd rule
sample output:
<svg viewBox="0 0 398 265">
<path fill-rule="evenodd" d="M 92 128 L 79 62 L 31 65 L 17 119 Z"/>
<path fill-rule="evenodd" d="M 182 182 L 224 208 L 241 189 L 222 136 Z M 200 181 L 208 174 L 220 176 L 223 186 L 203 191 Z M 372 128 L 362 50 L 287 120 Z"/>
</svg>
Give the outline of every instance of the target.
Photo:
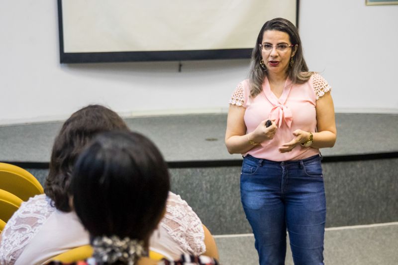
<svg viewBox="0 0 398 265">
<path fill-rule="evenodd" d="M 398 221 L 398 159 L 324 163 L 326 226 Z M 48 170 L 27 169 L 44 185 Z M 170 169 L 172 191 L 212 234 L 251 233 L 239 192 L 240 167 Z"/>
</svg>

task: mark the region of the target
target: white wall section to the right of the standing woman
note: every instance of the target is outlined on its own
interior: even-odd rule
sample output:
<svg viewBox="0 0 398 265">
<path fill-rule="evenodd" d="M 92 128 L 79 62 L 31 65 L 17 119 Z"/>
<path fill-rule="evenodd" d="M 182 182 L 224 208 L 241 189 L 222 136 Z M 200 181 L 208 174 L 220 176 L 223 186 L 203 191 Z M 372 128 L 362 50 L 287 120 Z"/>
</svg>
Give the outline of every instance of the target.
<svg viewBox="0 0 398 265">
<path fill-rule="evenodd" d="M 301 0 L 300 37 L 309 68 L 334 88 L 340 111 L 398 112 L 398 5 Z"/>
</svg>

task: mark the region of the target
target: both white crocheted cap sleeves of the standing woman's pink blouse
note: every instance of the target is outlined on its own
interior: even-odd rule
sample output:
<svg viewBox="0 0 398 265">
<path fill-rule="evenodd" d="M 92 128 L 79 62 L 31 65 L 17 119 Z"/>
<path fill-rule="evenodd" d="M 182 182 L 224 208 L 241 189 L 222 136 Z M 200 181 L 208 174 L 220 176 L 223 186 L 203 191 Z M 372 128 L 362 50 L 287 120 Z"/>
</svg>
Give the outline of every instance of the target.
<svg viewBox="0 0 398 265">
<path fill-rule="evenodd" d="M 314 73 L 309 80 L 312 83 L 312 87 L 315 91 L 316 100 L 318 100 L 319 97 L 323 96 L 326 92 L 331 91 L 332 89 L 327 84 L 326 80 L 318 73 Z M 233 91 L 231 98 L 229 99 L 229 104 L 245 106 L 242 82 L 240 82 Z"/>
</svg>

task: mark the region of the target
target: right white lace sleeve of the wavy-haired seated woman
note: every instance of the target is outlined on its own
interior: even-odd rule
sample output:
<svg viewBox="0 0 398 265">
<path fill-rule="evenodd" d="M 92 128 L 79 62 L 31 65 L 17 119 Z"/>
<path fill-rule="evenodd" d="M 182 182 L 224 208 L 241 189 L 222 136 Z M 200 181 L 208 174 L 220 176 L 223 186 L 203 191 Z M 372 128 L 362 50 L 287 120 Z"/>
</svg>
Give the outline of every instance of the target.
<svg viewBox="0 0 398 265">
<path fill-rule="evenodd" d="M 166 214 L 160 225 L 185 253 L 200 255 L 206 251 L 202 222 L 180 195 L 169 192 Z"/>
</svg>

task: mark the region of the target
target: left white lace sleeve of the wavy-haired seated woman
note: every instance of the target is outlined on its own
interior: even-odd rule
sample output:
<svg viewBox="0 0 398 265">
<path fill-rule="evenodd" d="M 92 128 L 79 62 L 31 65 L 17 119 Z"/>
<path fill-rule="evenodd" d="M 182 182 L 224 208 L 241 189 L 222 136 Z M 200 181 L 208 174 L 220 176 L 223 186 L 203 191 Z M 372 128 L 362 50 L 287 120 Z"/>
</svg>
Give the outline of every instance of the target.
<svg viewBox="0 0 398 265">
<path fill-rule="evenodd" d="M 55 210 L 45 194 L 23 202 L 1 233 L 0 264 L 13 265 L 42 224 Z"/>
</svg>

